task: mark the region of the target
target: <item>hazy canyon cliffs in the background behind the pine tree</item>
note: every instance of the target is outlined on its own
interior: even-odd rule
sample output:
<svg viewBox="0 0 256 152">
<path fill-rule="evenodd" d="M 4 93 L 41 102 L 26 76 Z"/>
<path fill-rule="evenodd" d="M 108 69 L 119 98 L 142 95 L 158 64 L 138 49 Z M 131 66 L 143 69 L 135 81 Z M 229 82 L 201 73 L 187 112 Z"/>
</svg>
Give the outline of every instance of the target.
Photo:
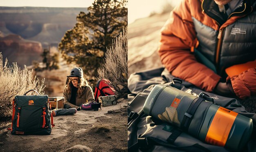
<svg viewBox="0 0 256 152">
<path fill-rule="evenodd" d="M 58 46 L 80 11 L 87 8 L 0 7 L 0 52 L 21 68 L 42 62 L 43 49 Z"/>
</svg>

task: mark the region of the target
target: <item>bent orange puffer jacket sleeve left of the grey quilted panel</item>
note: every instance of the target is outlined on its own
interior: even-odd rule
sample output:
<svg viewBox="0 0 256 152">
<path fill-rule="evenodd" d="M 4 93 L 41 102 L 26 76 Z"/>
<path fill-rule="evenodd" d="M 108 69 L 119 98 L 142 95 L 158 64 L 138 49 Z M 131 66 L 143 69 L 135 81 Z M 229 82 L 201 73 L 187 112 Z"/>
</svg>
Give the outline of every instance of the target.
<svg viewBox="0 0 256 152">
<path fill-rule="evenodd" d="M 161 30 L 158 53 L 162 64 L 175 77 L 211 92 L 220 76 L 196 61 L 190 48 L 195 46 L 196 32 L 190 13 L 189 0 L 183 0 L 170 14 Z"/>
</svg>

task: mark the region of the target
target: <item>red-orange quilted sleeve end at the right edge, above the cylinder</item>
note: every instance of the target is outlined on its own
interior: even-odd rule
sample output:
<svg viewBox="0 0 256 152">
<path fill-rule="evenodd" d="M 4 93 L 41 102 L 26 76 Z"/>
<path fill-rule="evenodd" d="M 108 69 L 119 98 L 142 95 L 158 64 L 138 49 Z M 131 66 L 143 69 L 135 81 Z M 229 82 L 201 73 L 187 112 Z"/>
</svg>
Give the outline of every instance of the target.
<svg viewBox="0 0 256 152">
<path fill-rule="evenodd" d="M 227 77 L 227 81 L 229 79 L 236 96 L 240 99 L 256 95 L 256 68 L 249 68 L 231 78 Z"/>
</svg>

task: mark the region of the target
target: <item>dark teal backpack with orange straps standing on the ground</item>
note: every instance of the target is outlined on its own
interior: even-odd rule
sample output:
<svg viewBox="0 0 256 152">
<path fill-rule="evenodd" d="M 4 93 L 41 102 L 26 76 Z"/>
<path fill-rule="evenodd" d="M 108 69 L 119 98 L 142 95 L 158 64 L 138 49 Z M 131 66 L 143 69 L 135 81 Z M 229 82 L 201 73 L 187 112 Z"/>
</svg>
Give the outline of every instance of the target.
<svg viewBox="0 0 256 152">
<path fill-rule="evenodd" d="M 27 95 L 34 91 L 38 95 Z M 24 95 L 13 99 L 11 134 L 51 134 L 53 117 L 48 95 L 39 95 L 36 90 L 29 90 Z"/>
</svg>

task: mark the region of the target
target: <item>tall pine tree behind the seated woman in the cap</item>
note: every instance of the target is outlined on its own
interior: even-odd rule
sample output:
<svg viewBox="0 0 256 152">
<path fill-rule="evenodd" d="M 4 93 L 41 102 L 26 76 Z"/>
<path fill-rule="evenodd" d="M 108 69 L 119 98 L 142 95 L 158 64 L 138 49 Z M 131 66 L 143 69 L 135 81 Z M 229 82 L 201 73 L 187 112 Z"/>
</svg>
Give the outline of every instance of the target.
<svg viewBox="0 0 256 152">
<path fill-rule="evenodd" d="M 107 47 L 127 25 L 127 0 L 95 0 L 89 13 L 80 12 L 77 23 L 67 31 L 59 50 L 67 63 L 76 63 L 94 79 Z"/>
</svg>

